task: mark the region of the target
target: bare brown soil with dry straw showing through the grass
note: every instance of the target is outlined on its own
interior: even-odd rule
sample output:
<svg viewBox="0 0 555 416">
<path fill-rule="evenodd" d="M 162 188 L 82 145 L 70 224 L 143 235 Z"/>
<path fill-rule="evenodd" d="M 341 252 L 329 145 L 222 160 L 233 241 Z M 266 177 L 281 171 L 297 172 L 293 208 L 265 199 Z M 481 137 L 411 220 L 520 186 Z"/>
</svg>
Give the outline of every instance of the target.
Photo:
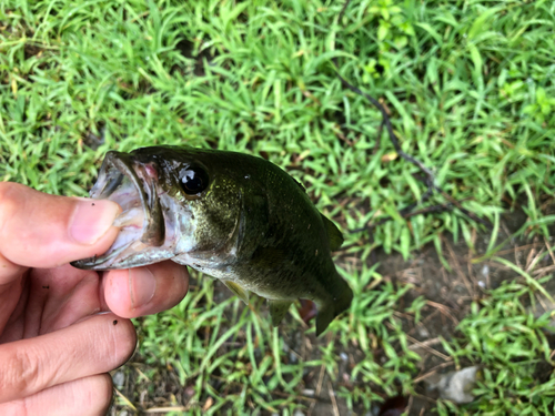
<svg viewBox="0 0 555 416">
<path fill-rule="evenodd" d="M 498 236 L 500 244 L 496 253 L 501 258 L 517 264 L 522 270 L 541 280 L 555 270 L 555 258 L 549 240 L 541 239 L 512 239 L 518 229 L 523 225 L 525 215 L 522 211 L 508 213 L 503 216 L 503 232 Z M 509 241 L 506 241 L 508 239 Z M 392 284 L 397 290 L 401 287 L 408 288 L 398 300 L 398 304 L 389 305 L 392 307 L 393 316 L 398 318 L 405 337 L 407 339 L 407 349 L 415 352 L 420 358 L 416 361 L 412 372 L 412 383 L 414 390 L 411 395 L 403 395 L 402 389 L 398 389 L 396 399 L 385 402 L 383 404 L 374 404 L 374 406 L 365 409 L 364 406 L 349 406 L 347 400 L 337 396 L 337 390 L 353 392 L 356 388 L 364 389 L 367 386 L 367 381 L 364 377 L 353 377 L 355 363 L 361 363 L 369 357 L 363 353 L 359 343 L 349 345 L 346 348 L 334 348 L 335 359 L 339 362 L 333 376 L 326 373 L 324 364 L 310 366 L 304 372 L 302 383 L 296 386 L 293 394 L 294 403 L 299 403 L 302 414 L 307 415 L 385 415 L 389 405 L 398 410 L 391 415 L 401 415 L 402 410 L 406 410 L 408 415 L 427 415 L 432 409 L 436 408 L 440 393 L 431 386 L 428 381 L 436 378 L 438 375 L 446 374 L 465 366 L 475 364 L 487 365 L 480 361 L 472 359 L 470 356 L 461 356 L 454 361 L 450 355 L 451 351 L 445 348 L 445 344 L 450 345 L 455 341 L 461 341 L 463 344 L 467 342 L 465 334 L 458 329 L 461 321 L 471 313 L 472 304 L 487 303 L 492 301 L 492 290 L 505 287 L 508 282 L 512 282 L 518 287 L 525 286 L 525 278 L 498 261 L 485 258 L 480 262 L 473 262 L 475 258 L 481 258 L 486 252 L 490 242 L 487 234 L 475 234 L 474 247 L 472 251 L 465 242 L 454 243 L 452 236 L 446 236 L 443 240 L 442 248 L 445 258 L 442 261 L 433 245 L 426 245 L 422 250 L 414 252 L 411 260 L 403 260 L 401 254 L 386 254 L 383 251 L 377 251 L 375 258 L 372 262 L 377 262 L 376 272 L 381 275 L 380 282 L 373 282 L 367 287 L 380 291 L 384 284 Z M 340 256 L 337 262 L 343 267 L 349 268 L 361 267 L 360 258 Z M 555 294 L 555 281 L 549 280 L 543 284 L 543 287 L 548 294 Z M 516 287 L 515 287 L 516 288 Z M 509 294 L 517 294 L 518 291 L 513 288 Z M 194 288 L 193 288 L 194 291 Z M 229 298 L 230 293 L 223 285 L 216 284 L 214 287 L 214 296 L 218 298 Z M 194 293 L 194 292 L 193 292 Z M 191 296 L 192 294 L 190 294 Z M 532 306 L 529 300 L 522 300 L 522 307 L 531 315 L 541 316 L 554 310 L 552 301 L 545 298 L 542 294 L 535 294 L 537 304 Z M 415 323 L 413 314 L 406 314 L 403 311 L 411 305 L 415 300 L 424 300 L 420 310 L 420 319 Z M 511 301 L 518 302 L 518 296 L 511 296 Z M 496 301 L 495 301 L 496 302 Z M 259 305 L 260 306 L 260 305 Z M 258 313 L 261 318 L 269 319 L 265 311 L 265 305 L 251 311 L 249 313 Z M 231 315 L 231 314 L 230 314 Z M 548 314 L 549 315 L 549 314 Z M 551 316 L 551 315 L 549 315 Z M 496 321 L 495 318 L 493 319 Z M 471 318 L 472 322 L 472 318 Z M 387 324 L 386 324 L 387 325 Z M 286 326 L 286 325 L 283 325 Z M 491 328 L 491 327 L 488 327 Z M 311 361 L 322 359 L 319 346 L 324 346 L 330 343 L 332 336 L 323 336 L 323 339 L 316 339 L 314 335 L 303 334 L 303 328 L 294 331 L 283 331 L 280 328 L 279 336 L 283 339 L 283 345 L 286 345 L 285 352 L 290 352 L 289 358 L 299 359 L 310 363 Z M 305 329 L 305 328 L 304 328 Z M 480 329 L 478 329 L 480 332 Z M 543 332 L 549 345 L 549 349 L 555 351 L 555 322 L 548 319 L 546 331 Z M 377 363 L 386 363 L 387 354 L 380 345 L 380 339 L 370 334 L 373 345 L 372 359 Z M 482 335 L 483 336 L 483 335 Z M 452 345 L 452 344 L 451 344 Z M 501 343 L 500 343 L 501 345 Z M 230 342 L 221 347 L 221 353 L 225 353 L 230 348 L 242 347 L 241 342 Z M 402 346 L 396 343 L 392 347 L 395 354 L 403 354 Z M 531 376 L 541 381 L 548 381 L 552 377 L 553 353 L 549 359 L 542 359 L 529 366 Z M 493 368 L 492 368 L 493 369 Z M 144 373 L 153 371 L 157 374 L 154 384 L 155 389 L 152 389 L 152 379 L 144 376 Z M 487 371 L 487 367 L 485 368 Z M 137 355 L 122 369 L 114 372 L 114 379 L 121 383 L 119 393 L 122 397 L 140 398 L 135 403 L 138 408 L 149 409 L 149 413 L 164 414 L 170 409 L 174 412 L 189 410 L 195 403 L 191 403 L 191 397 L 194 396 L 194 387 L 189 386 L 183 388 L 180 384 L 179 372 L 169 367 L 161 369 L 151 367 L 144 363 L 141 355 Z M 216 379 L 220 377 L 216 377 Z M 223 379 L 222 379 L 223 382 Z M 219 388 L 224 383 L 214 388 Z M 289 397 L 291 395 L 275 390 L 273 392 L 276 398 Z M 382 398 L 387 399 L 387 395 L 377 394 Z M 120 414 L 125 406 L 125 400 L 119 400 L 120 406 L 112 408 L 112 414 Z M 214 400 L 205 398 L 201 404 L 204 410 L 209 410 Z M 498 414 L 504 414 L 502 409 Z M 297 410 L 300 412 L 300 410 Z M 261 412 L 261 414 L 272 414 L 272 410 Z"/>
</svg>

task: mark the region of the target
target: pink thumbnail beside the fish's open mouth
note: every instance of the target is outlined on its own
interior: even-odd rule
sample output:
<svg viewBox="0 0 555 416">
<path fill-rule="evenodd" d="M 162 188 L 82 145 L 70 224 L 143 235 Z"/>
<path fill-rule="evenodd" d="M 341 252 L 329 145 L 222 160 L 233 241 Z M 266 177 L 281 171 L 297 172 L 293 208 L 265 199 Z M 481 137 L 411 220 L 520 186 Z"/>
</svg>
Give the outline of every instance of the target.
<svg viewBox="0 0 555 416">
<path fill-rule="evenodd" d="M 120 205 L 108 200 L 79 197 L 70 221 L 70 234 L 81 244 L 93 244 L 112 226 Z"/>
</svg>

